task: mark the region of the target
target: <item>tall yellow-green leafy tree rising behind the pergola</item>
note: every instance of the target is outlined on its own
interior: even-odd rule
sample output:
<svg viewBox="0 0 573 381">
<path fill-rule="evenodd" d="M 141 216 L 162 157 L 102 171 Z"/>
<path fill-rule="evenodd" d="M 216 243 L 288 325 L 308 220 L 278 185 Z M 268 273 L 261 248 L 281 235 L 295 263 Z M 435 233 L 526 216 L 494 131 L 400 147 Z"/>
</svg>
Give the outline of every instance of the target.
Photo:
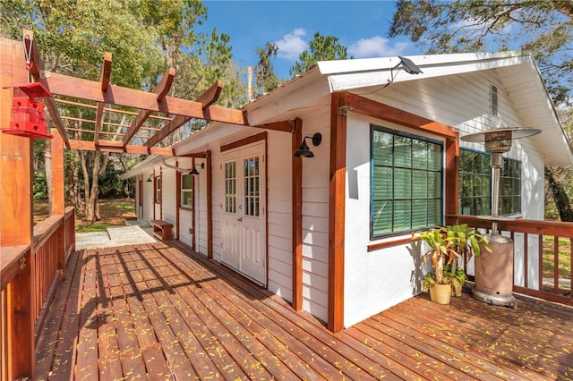
<svg viewBox="0 0 573 381">
<path fill-rule="evenodd" d="M 167 67 L 174 66 L 177 75 L 172 96 L 194 98 L 226 72 L 231 59 L 227 35 L 218 35 L 216 30 L 210 34 L 194 31 L 206 13 L 201 1 L 196 0 L 3 0 L 0 34 L 20 39 L 21 29 L 32 30 L 48 71 L 90 80 L 99 79 L 104 52 L 110 52 L 112 81 L 133 89 L 152 89 Z M 91 110 L 60 106 L 59 111 L 76 117 L 84 113 L 85 119 L 95 119 Z M 112 113 L 104 114 L 104 118 L 111 123 L 121 122 L 121 116 Z M 93 125 L 87 124 L 73 126 L 83 130 L 74 139 L 90 134 L 85 131 Z M 102 126 L 101 132 L 119 138 L 118 128 Z M 68 188 L 77 198 L 76 206 L 83 204 L 78 185 L 82 180 L 86 219 L 99 219 L 98 178 L 106 170 L 109 156 L 82 152 L 66 157 L 77 160 L 68 166 L 76 171 L 68 174 Z"/>
</svg>

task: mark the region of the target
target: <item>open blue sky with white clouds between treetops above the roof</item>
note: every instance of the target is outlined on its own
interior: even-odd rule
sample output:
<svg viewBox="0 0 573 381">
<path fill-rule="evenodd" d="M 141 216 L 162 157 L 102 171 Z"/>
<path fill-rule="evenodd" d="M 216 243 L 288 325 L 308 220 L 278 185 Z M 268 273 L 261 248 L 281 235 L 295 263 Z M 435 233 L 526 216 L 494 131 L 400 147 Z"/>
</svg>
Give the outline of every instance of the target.
<svg viewBox="0 0 573 381">
<path fill-rule="evenodd" d="M 280 79 L 306 50 L 315 32 L 335 36 L 354 58 L 419 55 L 407 38 L 389 39 L 393 1 L 224 1 L 204 0 L 204 31 L 217 29 L 231 37 L 233 59 L 241 66 L 256 65 L 257 47 L 278 45 L 274 61 Z"/>
</svg>

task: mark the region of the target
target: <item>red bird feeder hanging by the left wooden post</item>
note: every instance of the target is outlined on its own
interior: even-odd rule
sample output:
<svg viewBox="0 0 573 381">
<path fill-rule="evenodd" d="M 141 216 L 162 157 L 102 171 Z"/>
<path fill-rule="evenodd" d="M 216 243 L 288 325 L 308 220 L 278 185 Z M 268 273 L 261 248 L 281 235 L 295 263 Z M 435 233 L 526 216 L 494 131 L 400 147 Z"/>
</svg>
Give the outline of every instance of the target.
<svg viewBox="0 0 573 381">
<path fill-rule="evenodd" d="M 47 133 L 44 104 L 37 97 L 52 97 L 41 83 L 18 83 L 4 89 L 13 89 L 10 129 L 4 133 L 20 135 L 30 139 L 52 139 Z"/>
</svg>

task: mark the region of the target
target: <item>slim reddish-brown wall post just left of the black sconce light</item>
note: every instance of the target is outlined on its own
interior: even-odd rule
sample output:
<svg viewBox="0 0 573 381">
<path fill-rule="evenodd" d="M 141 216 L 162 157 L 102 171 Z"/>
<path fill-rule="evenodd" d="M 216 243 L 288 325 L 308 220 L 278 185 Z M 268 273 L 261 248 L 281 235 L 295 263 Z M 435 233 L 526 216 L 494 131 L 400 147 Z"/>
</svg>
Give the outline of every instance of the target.
<svg viewBox="0 0 573 381">
<path fill-rule="evenodd" d="M 291 151 L 294 153 L 303 141 L 303 121 L 295 119 Z M 303 309 L 303 159 L 292 157 L 293 192 L 293 309 Z"/>
</svg>

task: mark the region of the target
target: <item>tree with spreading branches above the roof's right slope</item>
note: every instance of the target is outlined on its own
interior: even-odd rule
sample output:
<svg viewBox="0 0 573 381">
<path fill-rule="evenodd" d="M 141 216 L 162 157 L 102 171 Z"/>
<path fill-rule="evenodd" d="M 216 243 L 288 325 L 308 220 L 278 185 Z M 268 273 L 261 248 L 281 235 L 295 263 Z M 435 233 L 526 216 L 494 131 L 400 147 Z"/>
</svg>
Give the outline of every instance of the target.
<svg viewBox="0 0 573 381">
<path fill-rule="evenodd" d="M 573 2 L 569 0 L 398 0 L 389 37 L 398 35 L 408 36 L 429 54 L 529 50 L 553 101 L 570 103 Z M 573 221 L 567 196 L 571 187 L 566 188 L 570 172 L 570 168 L 545 168 L 546 203 L 553 199 L 562 221 Z"/>
</svg>

